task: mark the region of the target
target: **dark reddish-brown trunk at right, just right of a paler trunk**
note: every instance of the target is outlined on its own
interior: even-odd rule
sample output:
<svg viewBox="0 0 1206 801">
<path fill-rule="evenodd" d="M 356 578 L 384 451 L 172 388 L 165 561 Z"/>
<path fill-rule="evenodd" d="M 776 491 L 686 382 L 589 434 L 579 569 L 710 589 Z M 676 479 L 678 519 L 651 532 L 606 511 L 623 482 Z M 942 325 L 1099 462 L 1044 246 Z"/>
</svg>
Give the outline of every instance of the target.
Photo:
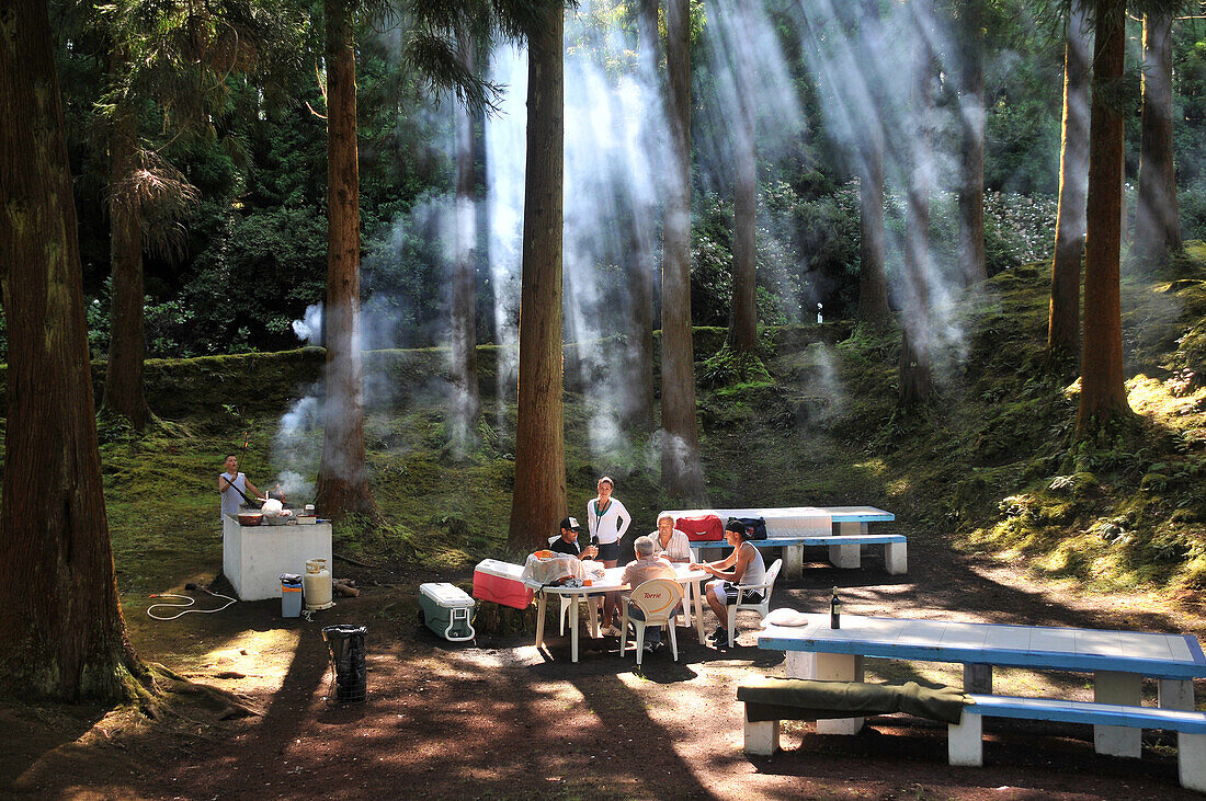
<svg viewBox="0 0 1206 801">
<path fill-rule="evenodd" d="M 1093 102 L 1089 116 L 1088 236 L 1084 254 L 1084 347 L 1081 352 L 1081 437 L 1129 416 L 1123 377 L 1119 248 L 1122 246 L 1123 117 L 1107 100 L 1123 77 L 1125 5 L 1096 0 Z"/>
</svg>

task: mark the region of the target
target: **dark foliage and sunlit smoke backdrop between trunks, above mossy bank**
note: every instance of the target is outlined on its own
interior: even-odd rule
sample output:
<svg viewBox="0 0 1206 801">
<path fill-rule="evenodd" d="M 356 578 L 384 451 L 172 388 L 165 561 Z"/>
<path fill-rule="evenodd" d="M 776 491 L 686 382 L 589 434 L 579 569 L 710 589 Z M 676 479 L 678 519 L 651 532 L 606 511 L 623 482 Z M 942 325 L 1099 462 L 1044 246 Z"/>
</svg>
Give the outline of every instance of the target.
<svg viewBox="0 0 1206 801">
<path fill-rule="evenodd" d="M 655 163 L 624 157 L 624 142 L 609 141 L 652 98 L 636 55 L 636 5 L 595 0 L 567 14 L 569 341 L 622 330 L 630 242 L 627 223 L 613 213 L 622 204 L 597 193 L 604 161 L 619 159 L 634 178 L 625 188 L 631 193 L 648 192 L 658 171 Z M 843 54 L 843 31 L 853 23 L 837 12 L 826 14 L 829 4 L 755 5 L 749 35 L 759 42 L 768 37 L 760 45 L 767 55 L 755 66 L 765 118 L 759 120 L 757 153 L 760 319 L 810 319 L 818 304 L 826 314 L 844 316 L 856 304 L 860 257 L 857 170 L 848 130 L 856 123 L 843 111 L 854 81 L 844 60 L 849 55 Z M 1036 4 L 1009 0 L 985 7 L 984 247 L 988 272 L 995 275 L 1050 257 L 1062 31 L 1049 14 L 1035 11 Z M 194 204 L 172 213 L 151 210 L 144 223 L 150 358 L 295 347 L 294 322 L 305 320 L 306 310 L 324 295 L 326 122 L 321 55 L 312 45 L 317 34 L 306 13 L 265 8 L 256 13 L 275 14 L 279 41 L 265 43 L 247 69 L 228 71 L 221 96 L 205 100 L 211 120 L 206 130 L 183 135 L 171 128 L 168 120 L 175 124 L 180 112 L 165 105 L 163 93 L 137 104 L 147 149 L 178 170 L 197 195 Z M 692 11 L 691 307 L 697 325 L 727 323 L 732 288 L 734 112 L 722 66 L 732 48 L 724 33 L 732 23 L 725 8 L 697 4 Z M 52 22 L 89 342 L 93 357 L 104 359 L 112 287 L 103 129 L 113 89 L 106 84 L 107 40 L 89 33 L 80 14 L 60 8 Z M 356 25 L 364 344 L 441 344 L 447 336 L 447 211 L 455 193 L 457 104 L 447 93 L 433 93 L 402 58 L 404 16 L 365 12 Z M 946 35 L 953 41 L 954 34 Z M 1125 116 L 1125 208 L 1131 219 L 1140 167 L 1141 39 L 1141 22 L 1129 20 L 1131 57 L 1122 102 L 1132 112 Z M 508 214 L 514 214 L 522 182 L 525 59 L 513 46 L 498 43 L 480 61 L 502 95 L 497 111 L 474 119 L 478 213 L 490 231 L 475 252 L 476 331 L 479 342 L 502 342 L 517 302 L 517 240 Z M 1204 238 L 1206 29 L 1199 20 L 1173 25 L 1172 76 L 1181 224 L 1185 240 Z M 942 89 L 935 149 L 952 152 L 959 101 Z M 931 247 L 939 265 L 950 265 L 958 245 L 958 176 L 949 159 L 939 159 L 936 170 Z M 575 196 L 582 199 L 576 206 Z M 889 291 L 898 305 L 906 225 L 900 182 L 888 182 L 885 216 Z M 152 247 L 165 240 L 170 247 Z"/>
</svg>

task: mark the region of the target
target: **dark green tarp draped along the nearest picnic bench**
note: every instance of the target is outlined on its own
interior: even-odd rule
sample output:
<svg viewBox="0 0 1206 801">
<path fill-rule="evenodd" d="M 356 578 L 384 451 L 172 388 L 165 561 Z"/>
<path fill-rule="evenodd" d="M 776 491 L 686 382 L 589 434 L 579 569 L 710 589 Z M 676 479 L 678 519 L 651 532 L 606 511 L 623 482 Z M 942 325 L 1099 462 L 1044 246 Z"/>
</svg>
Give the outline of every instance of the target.
<svg viewBox="0 0 1206 801">
<path fill-rule="evenodd" d="M 958 724 L 964 705 L 968 703 L 967 696 L 959 690 L 949 687 L 933 690 L 917 682 L 863 684 L 772 677 L 742 683 L 737 688 L 737 700 L 745 702 L 745 717 L 750 723 L 862 718 L 904 712 Z"/>
</svg>

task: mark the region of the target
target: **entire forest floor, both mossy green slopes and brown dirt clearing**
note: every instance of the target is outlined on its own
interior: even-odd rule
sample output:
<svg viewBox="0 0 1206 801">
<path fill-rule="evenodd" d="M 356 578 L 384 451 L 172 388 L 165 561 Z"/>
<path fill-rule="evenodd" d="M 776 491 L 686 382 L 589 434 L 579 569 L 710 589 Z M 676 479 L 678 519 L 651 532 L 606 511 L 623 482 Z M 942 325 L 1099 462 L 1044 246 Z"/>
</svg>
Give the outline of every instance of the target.
<svg viewBox="0 0 1206 801">
<path fill-rule="evenodd" d="M 1204 251 L 1196 247 L 1195 253 Z M 997 276 L 946 310 L 938 402 L 895 410 L 898 337 L 826 323 L 766 335 L 768 375 L 704 385 L 699 394 L 709 500 L 718 506 L 874 505 L 882 526 L 909 536 L 909 572 L 889 577 L 879 552 L 859 571 L 816 561 L 783 582 L 772 606 L 818 609 L 838 585 L 848 613 L 1199 631 L 1206 576 L 1206 271 L 1124 284 L 1124 336 L 1134 424 L 1094 443 L 1071 441 L 1076 385 L 1041 367 L 1042 265 Z M 697 359 L 718 332 L 697 331 Z M 631 536 L 669 508 L 656 481 L 656 442 L 608 425 L 608 394 L 628 377 L 601 343 L 567 354 L 570 512 L 595 479 L 616 478 Z M 485 351 L 486 353 L 490 349 Z M 300 353 L 300 352 L 299 352 Z M 500 358 L 482 361 L 484 385 Z M 294 404 L 257 407 L 232 395 L 239 359 L 174 363 L 154 388 L 188 397 L 188 381 L 223 387 L 221 408 L 181 413 L 145 437 L 103 422 L 103 463 L 118 587 L 144 659 L 232 691 L 262 715 L 171 694 L 158 720 L 129 708 L 0 706 L 0 793 L 36 797 L 820 796 L 1170 797 L 1179 793 L 1175 742 L 1144 738 L 1140 761 L 1097 756 L 1088 729 L 991 723 L 984 768 L 946 765 L 946 731 L 907 718 L 873 719 L 854 738 L 789 726 L 773 759 L 740 752 L 736 684 L 781 675 L 745 619 L 740 647 L 704 648 L 683 632 L 637 672 L 617 643 L 591 643 L 578 665 L 566 641 L 533 647 L 532 613 L 482 620 L 475 646 L 415 625 L 417 585 L 468 585 L 484 556 L 507 556 L 514 475 L 514 399 L 487 396 L 468 453 L 449 447 L 438 357 L 381 357 L 388 384 L 367 424 L 370 476 L 384 528 L 335 531 L 336 577 L 363 593 L 312 623 L 282 620 L 280 603 L 154 622 L 154 593 L 209 584 L 222 564 L 215 476 L 246 438 L 244 469 L 260 487 L 317 464 L 321 428 L 285 436 L 304 411 L 305 354 L 260 357 L 254 378 Z M 428 359 L 428 363 L 423 363 Z M 373 364 L 373 359 L 368 360 Z M 426 366 L 425 366 L 426 365 Z M 222 371 L 229 371 L 229 376 Z M 165 379 L 166 381 L 166 379 Z M 591 393 L 582 393 L 584 388 Z M 605 390 L 605 391 L 604 391 Z M 269 395 L 270 393 L 264 393 Z M 262 399 L 260 399 L 262 400 Z M 152 400 L 154 404 L 154 401 Z M 312 478 L 312 476 L 310 476 Z M 304 501 L 299 501 L 304 502 Z M 630 536 L 630 538 L 631 538 Z M 810 556 L 820 559 L 820 553 Z M 355 561 L 341 560 L 344 556 Z M 221 582 L 218 583 L 221 587 Z M 176 588 L 176 589 L 172 589 Z M 203 599 L 200 606 L 213 603 Z M 487 616 L 488 617 L 488 616 Z M 709 617 L 710 622 L 710 617 Z M 367 703 L 341 706 L 320 630 L 369 629 Z M 959 684 L 954 669 L 873 660 L 872 675 Z M 915 672 L 914 672 L 915 671 Z M 999 671 L 999 691 L 1088 699 L 1084 676 Z M 1146 688 L 1154 694 L 1154 687 Z"/>
</svg>

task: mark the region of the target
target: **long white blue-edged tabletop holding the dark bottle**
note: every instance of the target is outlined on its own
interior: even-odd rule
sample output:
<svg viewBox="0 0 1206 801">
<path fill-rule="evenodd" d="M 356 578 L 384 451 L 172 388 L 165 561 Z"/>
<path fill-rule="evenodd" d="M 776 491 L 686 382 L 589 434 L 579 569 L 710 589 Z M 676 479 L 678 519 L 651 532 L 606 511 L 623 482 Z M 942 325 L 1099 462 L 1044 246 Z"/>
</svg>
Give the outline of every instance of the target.
<svg viewBox="0 0 1206 801">
<path fill-rule="evenodd" d="M 759 648 L 1013 667 L 1118 671 L 1155 678 L 1206 677 L 1193 635 L 808 614 L 803 626 L 767 626 Z"/>
</svg>

